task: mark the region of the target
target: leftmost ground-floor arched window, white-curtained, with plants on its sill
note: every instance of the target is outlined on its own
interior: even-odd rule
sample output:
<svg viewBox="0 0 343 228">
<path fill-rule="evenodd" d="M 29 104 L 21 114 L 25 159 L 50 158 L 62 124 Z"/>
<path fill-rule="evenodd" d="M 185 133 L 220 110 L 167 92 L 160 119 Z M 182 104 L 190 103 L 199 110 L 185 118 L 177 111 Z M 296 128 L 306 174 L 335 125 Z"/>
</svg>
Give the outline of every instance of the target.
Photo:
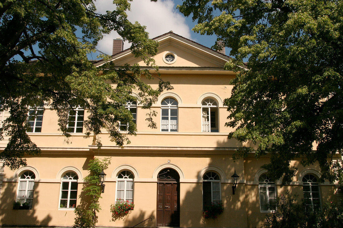
<svg viewBox="0 0 343 228">
<path fill-rule="evenodd" d="M 32 207 L 33 187 L 35 185 L 35 174 L 32 171 L 24 171 L 19 177 L 17 200 L 21 203 L 27 202 Z"/>
</svg>

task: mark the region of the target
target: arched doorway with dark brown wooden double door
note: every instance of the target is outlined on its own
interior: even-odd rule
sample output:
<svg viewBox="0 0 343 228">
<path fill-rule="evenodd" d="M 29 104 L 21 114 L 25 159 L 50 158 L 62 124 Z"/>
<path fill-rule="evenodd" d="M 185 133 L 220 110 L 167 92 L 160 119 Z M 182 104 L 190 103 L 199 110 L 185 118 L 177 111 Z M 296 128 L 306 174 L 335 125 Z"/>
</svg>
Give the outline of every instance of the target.
<svg viewBox="0 0 343 228">
<path fill-rule="evenodd" d="M 162 169 L 157 176 L 156 226 L 180 226 L 180 176 L 172 168 Z"/>
</svg>

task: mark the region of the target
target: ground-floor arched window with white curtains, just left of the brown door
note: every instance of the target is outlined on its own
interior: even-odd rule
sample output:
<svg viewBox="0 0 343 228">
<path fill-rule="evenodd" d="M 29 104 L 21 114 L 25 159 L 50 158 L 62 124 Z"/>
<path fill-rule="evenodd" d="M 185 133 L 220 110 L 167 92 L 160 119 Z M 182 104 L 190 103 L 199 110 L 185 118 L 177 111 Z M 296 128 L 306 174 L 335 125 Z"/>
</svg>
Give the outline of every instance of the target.
<svg viewBox="0 0 343 228">
<path fill-rule="evenodd" d="M 124 170 L 117 177 L 117 195 L 116 199 L 133 202 L 133 174 Z"/>
</svg>

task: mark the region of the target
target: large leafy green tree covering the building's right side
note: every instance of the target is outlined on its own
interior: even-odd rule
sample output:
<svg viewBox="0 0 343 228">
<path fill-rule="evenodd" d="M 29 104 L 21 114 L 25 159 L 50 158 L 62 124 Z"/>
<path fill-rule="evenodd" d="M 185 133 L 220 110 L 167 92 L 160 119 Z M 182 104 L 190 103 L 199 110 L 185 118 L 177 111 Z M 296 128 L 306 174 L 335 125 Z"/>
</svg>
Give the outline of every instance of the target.
<svg viewBox="0 0 343 228">
<path fill-rule="evenodd" d="M 256 144 L 256 158 L 268 153 L 262 167 L 283 184 L 296 157 L 318 161 L 321 179 L 333 181 L 332 159 L 343 155 L 343 1 L 185 0 L 178 8 L 197 20 L 194 31 L 232 49 L 226 69 L 248 59 L 224 101 L 226 126 L 235 127 L 228 137 Z"/>
</svg>

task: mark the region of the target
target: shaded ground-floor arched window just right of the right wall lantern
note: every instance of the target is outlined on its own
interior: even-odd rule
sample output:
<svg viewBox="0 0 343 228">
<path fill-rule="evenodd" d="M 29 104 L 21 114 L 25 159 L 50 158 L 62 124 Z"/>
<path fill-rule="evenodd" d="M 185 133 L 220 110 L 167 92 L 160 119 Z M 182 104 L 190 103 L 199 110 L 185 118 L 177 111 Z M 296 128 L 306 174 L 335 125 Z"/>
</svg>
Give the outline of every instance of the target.
<svg viewBox="0 0 343 228">
<path fill-rule="evenodd" d="M 267 174 L 262 174 L 260 176 L 259 190 L 261 212 L 270 212 L 275 210 L 276 186 L 274 181 L 268 177 Z"/>
</svg>

